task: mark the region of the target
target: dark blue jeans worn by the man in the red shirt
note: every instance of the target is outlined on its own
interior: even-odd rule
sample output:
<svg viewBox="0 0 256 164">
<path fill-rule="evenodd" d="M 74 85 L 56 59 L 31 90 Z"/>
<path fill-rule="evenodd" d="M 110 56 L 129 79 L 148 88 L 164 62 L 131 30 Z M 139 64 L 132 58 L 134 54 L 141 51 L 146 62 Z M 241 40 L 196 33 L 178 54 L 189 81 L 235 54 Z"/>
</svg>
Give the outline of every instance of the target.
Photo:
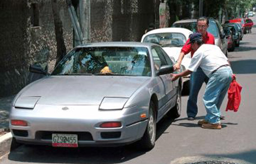
<svg viewBox="0 0 256 164">
<path fill-rule="evenodd" d="M 198 112 L 197 97 L 198 93 L 205 82 L 207 84 L 208 77 L 204 74 L 203 70 L 198 67 L 196 72 L 190 75 L 190 90 L 187 100 L 187 117 L 196 117 Z"/>
</svg>

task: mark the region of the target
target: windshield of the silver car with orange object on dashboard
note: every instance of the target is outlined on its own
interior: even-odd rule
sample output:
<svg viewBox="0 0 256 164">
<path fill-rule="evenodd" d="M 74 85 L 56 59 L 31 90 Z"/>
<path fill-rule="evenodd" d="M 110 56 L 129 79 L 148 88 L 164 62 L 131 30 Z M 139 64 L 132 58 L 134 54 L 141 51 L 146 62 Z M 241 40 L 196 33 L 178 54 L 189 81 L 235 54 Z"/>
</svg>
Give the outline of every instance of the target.
<svg viewBox="0 0 256 164">
<path fill-rule="evenodd" d="M 78 47 L 51 75 L 151 76 L 149 52 L 146 47 Z"/>
</svg>

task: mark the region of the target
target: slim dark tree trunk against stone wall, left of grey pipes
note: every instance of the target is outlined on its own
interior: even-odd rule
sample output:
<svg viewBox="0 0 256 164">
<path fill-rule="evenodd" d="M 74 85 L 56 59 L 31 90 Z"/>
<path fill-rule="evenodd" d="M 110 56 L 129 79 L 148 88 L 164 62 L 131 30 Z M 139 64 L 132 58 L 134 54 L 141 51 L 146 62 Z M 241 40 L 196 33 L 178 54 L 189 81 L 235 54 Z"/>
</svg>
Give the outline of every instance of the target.
<svg viewBox="0 0 256 164">
<path fill-rule="evenodd" d="M 67 50 L 63 38 L 63 28 L 62 22 L 59 16 L 59 9 L 57 0 L 51 0 L 52 3 L 52 12 L 53 12 L 53 19 L 54 19 L 54 28 L 55 28 L 55 38 L 57 42 L 57 57 L 55 66 L 59 63 L 59 61 L 66 55 Z"/>
</svg>

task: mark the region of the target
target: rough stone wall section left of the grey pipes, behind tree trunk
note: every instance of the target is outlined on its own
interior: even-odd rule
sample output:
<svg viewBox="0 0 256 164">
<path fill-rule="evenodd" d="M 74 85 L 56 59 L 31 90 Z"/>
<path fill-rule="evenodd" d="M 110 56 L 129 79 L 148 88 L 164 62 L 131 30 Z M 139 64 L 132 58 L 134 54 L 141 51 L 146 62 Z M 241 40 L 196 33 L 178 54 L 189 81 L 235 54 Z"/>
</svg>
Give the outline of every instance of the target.
<svg viewBox="0 0 256 164">
<path fill-rule="evenodd" d="M 73 29 L 66 0 L 59 11 L 67 51 L 73 47 Z M 39 25 L 31 24 L 32 4 L 39 9 Z M 0 96 L 16 94 L 28 84 L 29 66 L 55 64 L 56 39 L 51 0 L 1 0 Z"/>
</svg>

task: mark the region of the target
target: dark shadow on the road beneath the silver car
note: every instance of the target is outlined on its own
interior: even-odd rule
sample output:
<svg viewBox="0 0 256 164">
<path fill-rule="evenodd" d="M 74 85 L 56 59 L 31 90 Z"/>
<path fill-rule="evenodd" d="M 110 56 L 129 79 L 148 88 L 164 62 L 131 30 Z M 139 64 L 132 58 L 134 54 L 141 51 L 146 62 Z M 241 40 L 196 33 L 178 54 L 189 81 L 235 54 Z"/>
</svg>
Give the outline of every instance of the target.
<svg viewBox="0 0 256 164">
<path fill-rule="evenodd" d="M 157 140 L 174 119 L 165 116 L 157 124 Z M 80 147 L 53 148 L 51 146 L 22 145 L 11 150 L 8 159 L 20 162 L 40 163 L 121 163 L 146 153 L 132 144 L 114 148 Z"/>
</svg>

